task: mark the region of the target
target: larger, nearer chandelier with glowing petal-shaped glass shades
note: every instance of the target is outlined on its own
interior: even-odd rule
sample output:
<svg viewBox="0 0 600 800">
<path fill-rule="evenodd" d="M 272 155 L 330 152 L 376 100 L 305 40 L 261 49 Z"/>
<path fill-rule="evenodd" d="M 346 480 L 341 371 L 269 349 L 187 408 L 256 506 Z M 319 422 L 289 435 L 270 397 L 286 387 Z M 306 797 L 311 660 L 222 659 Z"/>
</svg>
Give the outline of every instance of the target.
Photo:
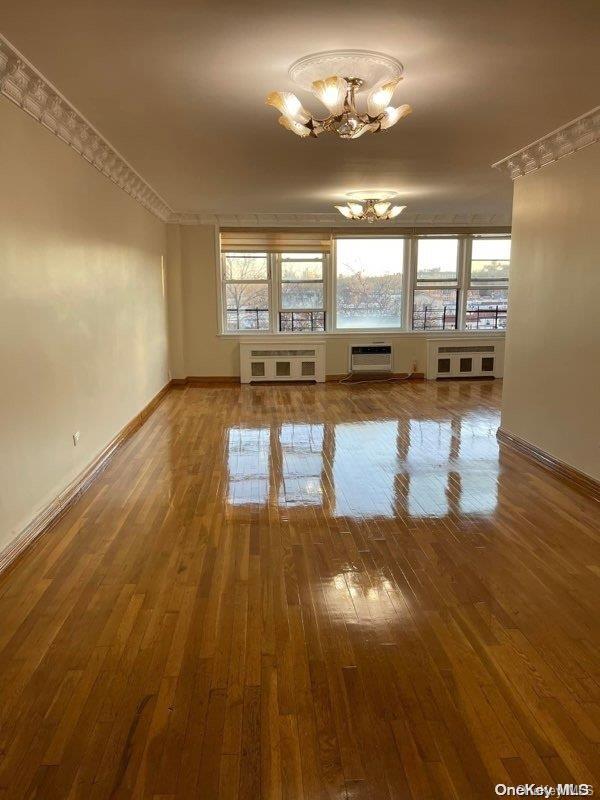
<svg viewBox="0 0 600 800">
<path fill-rule="evenodd" d="M 409 105 L 390 105 L 401 80 L 401 77 L 396 77 L 375 86 L 367 97 L 365 112 L 360 112 L 356 107 L 356 93 L 364 85 L 361 78 L 332 75 L 313 81 L 313 93 L 330 112 L 324 119 L 313 117 L 293 92 L 271 92 L 266 103 L 281 112 L 280 125 L 302 138 L 332 133 L 341 139 L 358 139 L 365 133 L 385 131 L 410 114 L 412 109 Z"/>
</svg>

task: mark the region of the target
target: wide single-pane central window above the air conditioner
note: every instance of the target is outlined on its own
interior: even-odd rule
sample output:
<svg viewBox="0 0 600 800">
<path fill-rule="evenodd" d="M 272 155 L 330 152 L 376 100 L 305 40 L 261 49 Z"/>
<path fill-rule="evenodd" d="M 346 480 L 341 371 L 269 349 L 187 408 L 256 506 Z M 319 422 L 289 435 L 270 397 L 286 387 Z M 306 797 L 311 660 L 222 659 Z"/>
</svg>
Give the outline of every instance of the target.
<svg viewBox="0 0 600 800">
<path fill-rule="evenodd" d="M 404 239 L 338 239 L 336 265 L 338 328 L 402 326 Z"/>
</svg>

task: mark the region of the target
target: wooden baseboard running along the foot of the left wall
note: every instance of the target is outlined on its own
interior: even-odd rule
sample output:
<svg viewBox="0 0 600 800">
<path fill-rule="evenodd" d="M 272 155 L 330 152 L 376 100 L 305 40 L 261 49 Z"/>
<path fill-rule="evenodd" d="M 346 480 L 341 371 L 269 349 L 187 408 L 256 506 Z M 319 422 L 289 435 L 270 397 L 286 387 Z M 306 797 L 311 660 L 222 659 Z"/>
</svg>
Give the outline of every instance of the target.
<svg viewBox="0 0 600 800">
<path fill-rule="evenodd" d="M 110 459 L 117 450 L 140 428 L 148 417 L 156 410 L 159 403 L 169 391 L 171 384 L 167 383 L 135 417 L 122 428 L 106 447 L 88 464 L 88 466 L 74 478 L 63 491 L 37 514 L 31 522 L 17 534 L 7 547 L 0 552 L 0 574 L 2 574 L 15 560 L 43 533 L 49 531 L 68 509 L 81 497 L 89 485 L 108 466 Z"/>
</svg>

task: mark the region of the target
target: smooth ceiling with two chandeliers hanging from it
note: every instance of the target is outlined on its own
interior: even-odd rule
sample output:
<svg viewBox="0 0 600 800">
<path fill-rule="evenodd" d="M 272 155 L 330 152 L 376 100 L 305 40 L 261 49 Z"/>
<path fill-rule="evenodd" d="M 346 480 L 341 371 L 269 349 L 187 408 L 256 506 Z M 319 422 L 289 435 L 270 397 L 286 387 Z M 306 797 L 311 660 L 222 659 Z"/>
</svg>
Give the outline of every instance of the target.
<svg viewBox="0 0 600 800">
<path fill-rule="evenodd" d="M 323 213 L 379 186 L 502 224 L 489 165 L 598 104 L 598 0 L 29 0 L 0 29 L 176 211 Z M 337 48 L 402 61 L 412 116 L 356 141 L 281 128 L 266 94 Z"/>
</svg>

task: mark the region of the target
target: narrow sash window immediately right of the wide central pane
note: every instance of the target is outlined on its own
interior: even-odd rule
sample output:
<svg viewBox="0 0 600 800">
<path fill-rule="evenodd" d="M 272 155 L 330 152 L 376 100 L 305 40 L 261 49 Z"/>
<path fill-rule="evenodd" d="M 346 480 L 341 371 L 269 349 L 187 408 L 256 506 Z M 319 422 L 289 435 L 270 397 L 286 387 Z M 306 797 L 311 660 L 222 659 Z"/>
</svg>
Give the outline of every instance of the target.
<svg viewBox="0 0 600 800">
<path fill-rule="evenodd" d="M 413 293 L 413 330 L 454 330 L 458 325 L 457 238 L 421 237 Z"/>
</svg>

